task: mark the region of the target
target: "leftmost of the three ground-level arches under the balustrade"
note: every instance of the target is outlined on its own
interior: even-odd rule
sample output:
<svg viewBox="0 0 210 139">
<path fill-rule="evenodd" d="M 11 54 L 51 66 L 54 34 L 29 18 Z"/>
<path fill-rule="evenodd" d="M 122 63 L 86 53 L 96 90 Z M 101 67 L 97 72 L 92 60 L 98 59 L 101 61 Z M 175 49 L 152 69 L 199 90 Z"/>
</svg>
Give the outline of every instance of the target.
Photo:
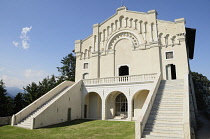
<svg viewBox="0 0 210 139">
<path fill-rule="evenodd" d="M 101 119 L 102 102 L 99 94 L 90 92 L 85 97 L 84 118 Z"/>
</svg>

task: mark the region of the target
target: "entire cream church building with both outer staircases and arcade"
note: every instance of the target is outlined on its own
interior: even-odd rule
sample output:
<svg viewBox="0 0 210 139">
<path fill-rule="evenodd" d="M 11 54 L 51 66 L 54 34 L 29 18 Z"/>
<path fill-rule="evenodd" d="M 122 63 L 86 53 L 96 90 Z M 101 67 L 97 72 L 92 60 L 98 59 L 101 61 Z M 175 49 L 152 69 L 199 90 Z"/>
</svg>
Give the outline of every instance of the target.
<svg viewBox="0 0 210 139">
<path fill-rule="evenodd" d="M 136 138 L 191 138 L 197 106 L 189 60 L 196 30 L 120 7 L 75 41 L 76 79 L 13 115 L 34 129 L 74 119 L 134 121 Z"/>
</svg>

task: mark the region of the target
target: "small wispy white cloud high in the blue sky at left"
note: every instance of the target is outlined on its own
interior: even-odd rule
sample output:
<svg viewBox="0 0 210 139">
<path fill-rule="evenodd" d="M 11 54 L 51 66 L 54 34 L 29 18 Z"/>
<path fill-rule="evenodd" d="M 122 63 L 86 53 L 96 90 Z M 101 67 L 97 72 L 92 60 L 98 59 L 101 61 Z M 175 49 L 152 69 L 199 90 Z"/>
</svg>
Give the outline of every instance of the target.
<svg viewBox="0 0 210 139">
<path fill-rule="evenodd" d="M 21 31 L 21 35 L 20 35 L 20 39 L 21 39 L 21 47 L 23 49 L 28 49 L 30 48 L 30 37 L 28 36 L 28 32 L 30 32 L 32 29 L 32 26 L 31 27 L 25 27 L 25 28 L 22 28 L 22 31 Z M 19 42 L 16 42 L 16 41 L 13 41 L 13 45 L 18 47 L 19 46 Z"/>
</svg>

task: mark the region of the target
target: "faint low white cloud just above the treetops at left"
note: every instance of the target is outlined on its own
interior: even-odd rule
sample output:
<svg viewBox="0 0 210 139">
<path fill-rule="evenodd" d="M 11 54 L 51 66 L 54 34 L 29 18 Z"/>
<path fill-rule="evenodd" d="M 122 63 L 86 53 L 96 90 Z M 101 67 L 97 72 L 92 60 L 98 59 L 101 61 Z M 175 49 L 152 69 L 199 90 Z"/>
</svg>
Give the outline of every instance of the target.
<svg viewBox="0 0 210 139">
<path fill-rule="evenodd" d="M 24 76 L 26 78 L 43 77 L 45 75 L 46 74 L 44 73 L 44 71 L 41 71 L 41 70 L 26 69 L 24 72 Z"/>
</svg>

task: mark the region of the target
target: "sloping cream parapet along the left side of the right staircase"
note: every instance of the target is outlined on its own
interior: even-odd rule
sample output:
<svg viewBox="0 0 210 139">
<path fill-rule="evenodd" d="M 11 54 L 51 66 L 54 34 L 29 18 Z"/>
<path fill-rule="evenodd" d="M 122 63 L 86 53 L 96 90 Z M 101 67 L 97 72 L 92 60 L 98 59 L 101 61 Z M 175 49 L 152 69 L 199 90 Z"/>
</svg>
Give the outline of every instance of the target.
<svg viewBox="0 0 210 139">
<path fill-rule="evenodd" d="M 141 139 L 144 127 L 147 123 L 147 119 L 149 118 L 150 111 L 152 109 L 160 82 L 161 82 L 161 73 L 157 74 L 157 78 L 153 83 L 153 87 L 150 90 L 143 108 L 141 109 L 140 116 L 138 117 L 137 121 L 135 122 L 135 138 Z"/>
</svg>

